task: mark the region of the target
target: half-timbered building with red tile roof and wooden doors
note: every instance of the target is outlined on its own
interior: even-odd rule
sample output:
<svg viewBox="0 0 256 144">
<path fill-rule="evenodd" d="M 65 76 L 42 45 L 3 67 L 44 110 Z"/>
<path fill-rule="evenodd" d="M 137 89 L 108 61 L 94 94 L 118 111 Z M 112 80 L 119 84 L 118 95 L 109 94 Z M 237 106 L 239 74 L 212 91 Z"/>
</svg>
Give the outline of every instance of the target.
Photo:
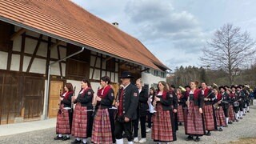
<svg viewBox="0 0 256 144">
<path fill-rule="evenodd" d="M 87 78 L 96 91 L 108 75 L 117 90 L 129 70 L 150 87 L 167 69 L 138 39 L 73 2 L 0 1 L 0 124 L 56 117 L 66 82 L 78 93 Z"/>
</svg>

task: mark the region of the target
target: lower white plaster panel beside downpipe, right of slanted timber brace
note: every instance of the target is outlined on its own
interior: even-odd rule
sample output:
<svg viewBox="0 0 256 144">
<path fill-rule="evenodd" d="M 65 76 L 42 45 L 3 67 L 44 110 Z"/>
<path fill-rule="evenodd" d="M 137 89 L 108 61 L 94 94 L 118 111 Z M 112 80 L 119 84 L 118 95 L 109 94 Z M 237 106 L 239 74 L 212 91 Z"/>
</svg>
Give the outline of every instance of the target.
<svg viewBox="0 0 256 144">
<path fill-rule="evenodd" d="M 45 74 L 46 73 L 46 59 L 34 58 L 30 68 L 31 73 Z"/>
</svg>

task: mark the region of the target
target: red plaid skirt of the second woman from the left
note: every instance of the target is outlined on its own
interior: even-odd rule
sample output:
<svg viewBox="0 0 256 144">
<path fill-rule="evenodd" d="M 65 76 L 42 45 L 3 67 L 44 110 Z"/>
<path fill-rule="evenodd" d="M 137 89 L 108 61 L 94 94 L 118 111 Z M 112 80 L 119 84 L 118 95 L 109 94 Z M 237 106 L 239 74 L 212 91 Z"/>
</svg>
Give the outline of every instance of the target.
<svg viewBox="0 0 256 144">
<path fill-rule="evenodd" d="M 74 108 L 71 134 L 76 138 L 87 138 L 87 107 L 77 103 Z"/>
</svg>

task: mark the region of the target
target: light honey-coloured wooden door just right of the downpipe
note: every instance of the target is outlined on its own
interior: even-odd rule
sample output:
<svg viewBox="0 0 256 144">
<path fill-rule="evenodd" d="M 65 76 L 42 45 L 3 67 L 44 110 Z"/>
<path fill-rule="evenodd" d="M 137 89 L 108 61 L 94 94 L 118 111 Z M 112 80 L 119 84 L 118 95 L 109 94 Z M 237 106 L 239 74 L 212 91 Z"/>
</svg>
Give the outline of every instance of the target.
<svg viewBox="0 0 256 144">
<path fill-rule="evenodd" d="M 63 91 L 63 84 L 62 81 L 51 81 L 50 82 L 50 96 L 49 96 L 49 107 L 48 107 L 48 117 L 55 118 L 58 112 L 58 103 L 59 103 L 59 96 L 60 90 Z"/>
</svg>

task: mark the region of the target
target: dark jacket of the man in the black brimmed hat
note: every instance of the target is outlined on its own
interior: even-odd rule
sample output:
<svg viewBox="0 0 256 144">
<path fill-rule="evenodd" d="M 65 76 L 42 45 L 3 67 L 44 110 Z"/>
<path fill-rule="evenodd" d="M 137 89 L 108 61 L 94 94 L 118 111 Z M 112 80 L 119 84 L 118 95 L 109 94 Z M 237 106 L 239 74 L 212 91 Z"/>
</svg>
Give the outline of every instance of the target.
<svg viewBox="0 0 256 144">
<path fill-rule="evenodd" d="M 122 90 L 119 90 L 119 95 Z M 121 96 L 119 96 L 121 98 Z M 130 83 L 129 86 L 123 92 L 123 115 L 124 117 L 134 120 L 137 118 L 137 106 L 138 106 L 138 88 Z M 120 99 L 119 99 L 120 102 Z"/>
</svg>

